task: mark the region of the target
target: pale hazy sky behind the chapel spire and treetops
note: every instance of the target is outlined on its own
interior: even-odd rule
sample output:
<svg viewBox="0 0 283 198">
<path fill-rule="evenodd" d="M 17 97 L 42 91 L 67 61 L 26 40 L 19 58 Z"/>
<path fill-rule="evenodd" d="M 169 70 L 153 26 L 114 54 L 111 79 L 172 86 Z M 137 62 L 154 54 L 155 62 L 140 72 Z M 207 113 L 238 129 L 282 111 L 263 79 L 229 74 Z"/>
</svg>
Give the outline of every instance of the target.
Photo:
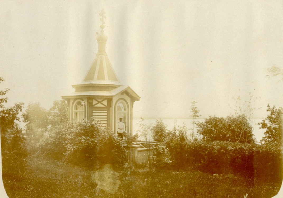
<svg viewBox="0 0 283 198">
<path fill-rule="evenodd" d="M 122 85 L 140 97 L 135 118 L 227 116 L 252 95 L 254 117 L 282 106 L 282 1 L 0 0 L 0 76 L 7 106 L 74 91 L 95 59 L 100 10 L 106 52 Z"/>
</svg>

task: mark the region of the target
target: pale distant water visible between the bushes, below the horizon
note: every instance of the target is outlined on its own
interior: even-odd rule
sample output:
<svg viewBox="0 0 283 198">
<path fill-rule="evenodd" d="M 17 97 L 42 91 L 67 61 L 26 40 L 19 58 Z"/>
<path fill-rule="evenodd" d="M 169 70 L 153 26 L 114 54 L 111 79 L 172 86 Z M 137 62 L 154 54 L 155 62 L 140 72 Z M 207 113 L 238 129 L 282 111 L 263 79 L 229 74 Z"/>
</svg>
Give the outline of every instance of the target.
<svg viewBox="0 0 283 198">
<path fill-rule="evenodd" d="M 203 122 L 205 119 L 197 119 L 197 122 Z M 253 127 L 253 134 L 254 137 L 256 138 L 256 141 L 260 142 L 260 140 L 264 137 L 264 132 L 265 129 L 260 129 L 260 125 L 258 125 L 258 122 L 261 122 L 263 119 L 251 119 L 250 124 Z M 138 133 L 140 129 L 139 127 L 139 123 L 140 123 L 141 119 L 133 119 L 133 134 Z M 190 135 L 191 134 L 191 128 L 193 127 L 192 124 L 192 119 L 162 119 L 162 121 L 164 122 L 165 125 L 167 125 L 167 129 L 168 130 L 172 130 L 174 128 L 174 125 L 176 123 L 176 126 L 184 126 L 184 124 L 186 125 L 186 127 L 188 128 L 187 134 Z M 156 119 L 144 119 L 143 120 L 144 124 L 152 124 L 155 125 L 156 123 Z M 195 129 L 196 132 L 196 129 Z M 139 133 L 138 133 L 139 134 Z M 149 137 L 147 137 L 149 138 Z M 139 140 L 145 140 L 145 138 L 141 137 L 141 135 L 139 134 Z"/>
</svg>

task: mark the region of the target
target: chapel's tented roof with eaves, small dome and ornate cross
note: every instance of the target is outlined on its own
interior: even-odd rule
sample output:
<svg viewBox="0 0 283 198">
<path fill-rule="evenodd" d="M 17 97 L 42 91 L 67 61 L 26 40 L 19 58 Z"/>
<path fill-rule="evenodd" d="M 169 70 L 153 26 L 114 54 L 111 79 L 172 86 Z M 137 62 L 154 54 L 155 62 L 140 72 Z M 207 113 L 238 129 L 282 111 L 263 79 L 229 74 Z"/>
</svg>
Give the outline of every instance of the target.
<svg viewBox="0 0 283 198">
<path fill-rule="evenodd" d="M 87 74 L 80 84 L 73 85 L 75 92 L 62 96 L 62 98 L 72 98 L 78 96 L 112 97 L 118 93 L 125 92 L 133 100 L 140 100 L 130 87 L 122 86 L 117 78 L 114 69 L 108 59 L 105 47 L 107 36 L 104 35 L 104 11 L 100 14 L 102 25 L 100 33 L 97 35 L 98 51 Z M 91 87 L 91 88 L 90 88 Z"/>
</svg>

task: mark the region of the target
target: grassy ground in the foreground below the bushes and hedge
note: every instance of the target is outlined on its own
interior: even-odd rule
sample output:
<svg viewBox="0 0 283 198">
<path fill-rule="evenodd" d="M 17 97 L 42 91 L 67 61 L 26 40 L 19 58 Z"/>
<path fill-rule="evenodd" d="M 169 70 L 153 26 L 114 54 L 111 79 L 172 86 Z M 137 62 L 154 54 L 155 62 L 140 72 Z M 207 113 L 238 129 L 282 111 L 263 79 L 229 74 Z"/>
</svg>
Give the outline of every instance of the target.
<svg viewBox="0 0 283 198">
<path fill-rule="evenodd" d="M 105 171 L 106 170 L 106 171 Z M 12 197 L 273 197 L 280 183 L 250 181 L 235 175 L 108 166 L 90 171 L 41 156 L 30 156 L 18 174 L 4 173 L 5 190 Z"/>
</svg>

